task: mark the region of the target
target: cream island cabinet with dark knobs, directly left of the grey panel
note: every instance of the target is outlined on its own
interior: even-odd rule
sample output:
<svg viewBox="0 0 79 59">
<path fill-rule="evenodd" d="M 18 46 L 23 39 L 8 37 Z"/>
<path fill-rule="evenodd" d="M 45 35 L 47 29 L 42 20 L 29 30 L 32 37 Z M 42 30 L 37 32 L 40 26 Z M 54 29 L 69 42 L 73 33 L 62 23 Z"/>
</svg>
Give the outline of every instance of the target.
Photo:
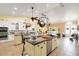
<svg viewBox="0 0 79 59">
<path fill-rule="evenodd" d="M 35 56 L 46 56 L 47 55 L 47 42 L 37 44 L 35 46 Z"/>
</svg>

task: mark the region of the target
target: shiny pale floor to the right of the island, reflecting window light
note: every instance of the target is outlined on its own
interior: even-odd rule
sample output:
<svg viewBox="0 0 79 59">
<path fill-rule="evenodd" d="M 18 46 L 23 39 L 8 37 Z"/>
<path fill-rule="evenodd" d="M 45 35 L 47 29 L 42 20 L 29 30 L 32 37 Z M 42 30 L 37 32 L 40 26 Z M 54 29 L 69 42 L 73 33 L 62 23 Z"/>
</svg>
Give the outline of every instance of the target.
<svg viewBox="0 0 79 59">
<path fill-rule="evenodd" d="M 49 56 L 79 56 L 79 42 L 72 42 L 69 38 L 58 41 L 58 47 Z"/>
</svg>

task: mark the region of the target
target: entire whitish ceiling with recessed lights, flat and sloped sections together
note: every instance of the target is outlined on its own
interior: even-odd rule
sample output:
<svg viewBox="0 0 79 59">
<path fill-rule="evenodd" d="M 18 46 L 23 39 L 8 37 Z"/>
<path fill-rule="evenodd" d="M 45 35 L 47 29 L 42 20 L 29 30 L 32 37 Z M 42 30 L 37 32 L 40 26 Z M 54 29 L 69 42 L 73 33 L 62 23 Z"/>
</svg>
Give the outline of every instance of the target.
<svg viewBox="0 0 79 59">
<path fill-rule="evenodd" d="M 67 22 L 79 18 L 79 3 L 0 3 L 0 16 L 34 16 L 45 13 L 50 22 Z"/>
</svg>

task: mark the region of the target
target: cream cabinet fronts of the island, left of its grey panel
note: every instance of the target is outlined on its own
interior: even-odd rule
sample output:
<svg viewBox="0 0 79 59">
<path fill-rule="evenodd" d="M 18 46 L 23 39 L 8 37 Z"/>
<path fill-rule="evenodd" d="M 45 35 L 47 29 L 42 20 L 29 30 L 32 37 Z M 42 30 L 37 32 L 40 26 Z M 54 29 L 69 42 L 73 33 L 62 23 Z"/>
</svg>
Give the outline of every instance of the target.
<svg viewBox="0 0 79 59">
<path fill-rule="evenodd" d="M 25 54 L 28 54 L 29 56 L 46 56 L 47 55 L 47 42 L 43 42 L 37 45 L 32 45 L 26 42 Z"/>
</svg>

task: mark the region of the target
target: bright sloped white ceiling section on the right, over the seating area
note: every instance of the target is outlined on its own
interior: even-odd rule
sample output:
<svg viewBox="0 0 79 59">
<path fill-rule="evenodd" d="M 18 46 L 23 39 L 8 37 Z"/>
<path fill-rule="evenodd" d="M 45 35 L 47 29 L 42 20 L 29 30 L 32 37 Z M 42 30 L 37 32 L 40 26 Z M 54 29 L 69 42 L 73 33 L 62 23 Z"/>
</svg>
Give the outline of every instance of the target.
<svg viewBox="0 0 79 59">
<path fill-rule="evenodd" d="M 79 3 L 64 3 L 48 12 L 50 22 L 71 22 L 79 19 Z"/>
</svg>

